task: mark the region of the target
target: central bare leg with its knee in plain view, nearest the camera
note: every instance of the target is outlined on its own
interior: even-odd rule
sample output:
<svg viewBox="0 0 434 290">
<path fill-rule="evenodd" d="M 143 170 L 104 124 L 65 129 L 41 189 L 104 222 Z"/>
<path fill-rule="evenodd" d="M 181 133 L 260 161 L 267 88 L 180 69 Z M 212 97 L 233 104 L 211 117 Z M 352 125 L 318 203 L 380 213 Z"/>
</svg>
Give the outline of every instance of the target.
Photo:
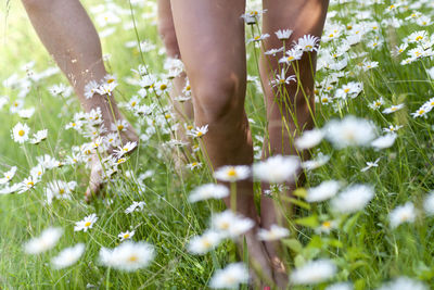
<svg viewBox="0 0 434 290">
<path fill-rule="evenodd" d="M 209 126 L 203 142 L 214 168 L 253 162 L 244 112 L 246 64 L 240 17 L 244 5 L 244 0 L 171 1 L 178 43 L 194 93 L 194 122 Z M 239 182 L 237 193 L 237 211 L 257 222 L 252 181 Z M 229 206 L 229 200 L 226 203 Z M 271 277 L 263 243 L 254 232 L 246 235 L 246 241 L 252 259 Z"/>
</svg>

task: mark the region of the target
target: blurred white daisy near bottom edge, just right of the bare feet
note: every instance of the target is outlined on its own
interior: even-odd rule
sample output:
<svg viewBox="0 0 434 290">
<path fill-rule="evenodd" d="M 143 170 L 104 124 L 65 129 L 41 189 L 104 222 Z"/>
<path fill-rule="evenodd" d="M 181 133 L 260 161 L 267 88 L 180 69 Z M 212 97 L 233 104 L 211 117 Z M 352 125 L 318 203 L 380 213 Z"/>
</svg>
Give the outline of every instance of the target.
<svg viewBox="0 0 434 290">
<path fill-rule="evenodd" d="M 336 266 L 330 260 L 317 260 L 294 269 L 290 280 L 294 285 L 312 285 L 326 281 L 336 274 Z"/>
</svg>

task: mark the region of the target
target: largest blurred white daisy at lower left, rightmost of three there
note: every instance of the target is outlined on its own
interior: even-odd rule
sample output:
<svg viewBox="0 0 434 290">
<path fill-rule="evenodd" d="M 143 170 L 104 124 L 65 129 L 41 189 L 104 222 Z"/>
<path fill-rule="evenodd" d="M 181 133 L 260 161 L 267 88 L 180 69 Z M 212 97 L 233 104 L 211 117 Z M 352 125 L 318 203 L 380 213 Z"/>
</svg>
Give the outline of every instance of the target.
<svg viewBox="0 0 434 290">
<path fill-rule="evenodd" d="M 126 272 L 146 267 L 154 256 L 154 248 L 146 242 L 125 241 L 114 249 L 100 250 L 102 265 Z"/>
</svg>

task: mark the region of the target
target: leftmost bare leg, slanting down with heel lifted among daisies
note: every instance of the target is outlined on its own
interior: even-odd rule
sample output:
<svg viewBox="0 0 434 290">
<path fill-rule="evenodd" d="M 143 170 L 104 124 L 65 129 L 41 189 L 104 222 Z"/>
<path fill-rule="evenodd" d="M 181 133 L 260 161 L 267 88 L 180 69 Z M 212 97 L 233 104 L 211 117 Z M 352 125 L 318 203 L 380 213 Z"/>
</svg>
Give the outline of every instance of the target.
<svg viewBox="0 0 434 290">
<path fill-rule="evenodd" d="M 85 111 L 101 108 L 105 128 L 122 118 L 113 97 L 85 97 L 85 86 L 100 81 L 106 71 L 100 38 L 78 0 L 22 0 L 42 43 L 68 78 Z M 113 113 L 111 105 L 113 108 Z M 123 141 L 138 140 L 132 127 L 122 133 Z M 101 173 L 92 166 L 87 196 L 100 190 Z"/>
</svg>

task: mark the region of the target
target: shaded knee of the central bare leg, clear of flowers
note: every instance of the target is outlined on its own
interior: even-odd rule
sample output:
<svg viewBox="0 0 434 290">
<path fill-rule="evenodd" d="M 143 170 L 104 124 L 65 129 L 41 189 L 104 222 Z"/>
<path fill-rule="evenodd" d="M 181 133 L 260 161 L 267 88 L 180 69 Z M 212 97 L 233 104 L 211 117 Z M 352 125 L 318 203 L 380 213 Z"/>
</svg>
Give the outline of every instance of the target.
<svg viewBox="0 0 434 290">
<path fill-rule="evenodd" d="M 208 73 L 194 88 L 194 114 L 201 123 L 235 125 L 244 118 L 245 80 L 229 75 Z"/>
</svg>

